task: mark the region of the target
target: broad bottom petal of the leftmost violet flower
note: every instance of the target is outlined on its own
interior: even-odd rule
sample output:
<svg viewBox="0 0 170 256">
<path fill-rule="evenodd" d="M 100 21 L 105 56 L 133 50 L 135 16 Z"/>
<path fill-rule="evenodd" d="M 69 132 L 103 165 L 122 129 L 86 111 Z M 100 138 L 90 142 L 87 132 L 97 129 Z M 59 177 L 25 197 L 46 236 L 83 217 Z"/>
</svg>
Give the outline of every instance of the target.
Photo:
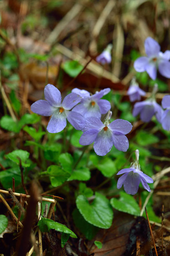
<svg viewBox="0 0 170 256">
<path fill-rule="evenodd" d="M 56 110 L 48 123 L 47 131 L 51 133 L 61 132 L 66 127 L 66 124 L 65 112 L 60 113 L 59 110 Z"/>
</svg>

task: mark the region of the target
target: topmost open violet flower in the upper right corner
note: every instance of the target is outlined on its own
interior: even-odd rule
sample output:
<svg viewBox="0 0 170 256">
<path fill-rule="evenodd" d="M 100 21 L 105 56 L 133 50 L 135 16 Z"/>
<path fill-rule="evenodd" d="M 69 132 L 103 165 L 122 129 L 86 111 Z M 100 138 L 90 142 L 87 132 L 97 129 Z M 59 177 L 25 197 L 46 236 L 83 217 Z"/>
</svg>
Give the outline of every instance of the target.
<svg viewBox="0 0 170 256">
<path fill-rule="evenodd" d="M 145 52 L 147 57 L 140 57 L 134 62 L 137 72 L 146 71 L 155 80 L 157 69 L 164 77 L 170 78 L 170 50 L 160 52 L 160 45 L 151 37 L 145 40 Z"/>
</svg>

